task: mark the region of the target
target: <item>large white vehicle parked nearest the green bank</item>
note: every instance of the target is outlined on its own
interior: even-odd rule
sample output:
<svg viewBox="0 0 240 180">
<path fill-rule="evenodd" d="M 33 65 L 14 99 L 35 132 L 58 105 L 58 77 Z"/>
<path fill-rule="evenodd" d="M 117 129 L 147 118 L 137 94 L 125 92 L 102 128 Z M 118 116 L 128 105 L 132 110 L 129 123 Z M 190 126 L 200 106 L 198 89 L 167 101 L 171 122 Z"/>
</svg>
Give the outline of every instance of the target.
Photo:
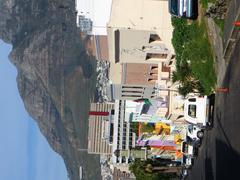
<svg viewBox="0 0 240 180">
<path fill-rule="evenodd" d="M 184 118 L 203 129 L 211 126 L 214 106 L 210 103 L 213 96 L 190 96 L 184 102 Z M 211 101 L 212 102 L 212 101 Z"/>
</svg>

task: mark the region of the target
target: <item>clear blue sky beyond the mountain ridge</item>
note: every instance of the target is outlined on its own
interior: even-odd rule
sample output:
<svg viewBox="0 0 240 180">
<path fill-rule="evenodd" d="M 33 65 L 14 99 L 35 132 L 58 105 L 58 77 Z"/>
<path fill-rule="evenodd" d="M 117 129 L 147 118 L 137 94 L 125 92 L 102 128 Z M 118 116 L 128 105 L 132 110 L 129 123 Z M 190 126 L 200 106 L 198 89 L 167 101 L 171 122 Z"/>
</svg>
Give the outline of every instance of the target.
<svg viewBox="0 0 240 180">
<path fill-rule="evenodd" d="M 0 179 L 67 180 L 63 159 L 24 109 L 17 71 L 8 60 L 10 50 L 0 40 Z"/>
</svg>

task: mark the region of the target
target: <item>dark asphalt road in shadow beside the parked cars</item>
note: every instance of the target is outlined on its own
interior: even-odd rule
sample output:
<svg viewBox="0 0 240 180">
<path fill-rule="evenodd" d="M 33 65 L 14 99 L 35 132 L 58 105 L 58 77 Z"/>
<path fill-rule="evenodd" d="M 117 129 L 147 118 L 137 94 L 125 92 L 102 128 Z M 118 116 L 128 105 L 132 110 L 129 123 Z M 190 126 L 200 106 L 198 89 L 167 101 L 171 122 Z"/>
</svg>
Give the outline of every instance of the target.
<svg viewBox="0 0 240 180">
<path fill-rule="evenodd" d="M 240 39 L 223 86 L 229 92 L 216 94 L 213 128 L 205 131 L 189 180 L 240 179 Z"/>
</svg>

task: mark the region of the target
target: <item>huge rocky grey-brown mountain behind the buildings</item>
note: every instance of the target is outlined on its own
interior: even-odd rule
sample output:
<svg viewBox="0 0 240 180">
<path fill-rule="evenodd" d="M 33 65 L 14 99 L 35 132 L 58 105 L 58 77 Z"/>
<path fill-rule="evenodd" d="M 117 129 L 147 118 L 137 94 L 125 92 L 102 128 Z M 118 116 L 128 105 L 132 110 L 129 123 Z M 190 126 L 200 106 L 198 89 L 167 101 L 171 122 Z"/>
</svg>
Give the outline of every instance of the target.
<svg viewBox="0 0 240 180">
<path fill-rule="evenodd" d="M 24 106 L 69 178 L 78 180 L 82 166 L 84 179 L 100 179 L 99 156 L 86 151 L 96 61 L 80 39 L 75 1 L 1 0 L 0 38 L 13 46 L 9 58 Z"/>
</svg>

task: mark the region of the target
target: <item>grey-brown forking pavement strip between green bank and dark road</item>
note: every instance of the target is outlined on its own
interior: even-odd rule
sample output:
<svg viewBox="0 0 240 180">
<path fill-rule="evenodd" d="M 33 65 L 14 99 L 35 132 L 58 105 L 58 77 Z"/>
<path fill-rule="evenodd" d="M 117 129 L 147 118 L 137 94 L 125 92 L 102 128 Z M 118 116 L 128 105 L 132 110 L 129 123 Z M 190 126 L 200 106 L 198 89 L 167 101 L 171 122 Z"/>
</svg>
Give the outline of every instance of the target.
<svg viewBox="0 0 240 180">
<path fill-rule="evenodd" d="M 224 36 L 220 36 L 220 29 L 212 18 L 206 18 L 208 34 L 214 50 L 215 68 L 217 73 L 217 86 L 221 87 L 225 77 L 226 68 L 229 63 L 232 51 L 235 48 L 235 41 L 240 36 L 240 28 L 237 29 L 233 23 L 240 17 L 240 0 L 232 0 L 227 11 Z"/>
</svg>

